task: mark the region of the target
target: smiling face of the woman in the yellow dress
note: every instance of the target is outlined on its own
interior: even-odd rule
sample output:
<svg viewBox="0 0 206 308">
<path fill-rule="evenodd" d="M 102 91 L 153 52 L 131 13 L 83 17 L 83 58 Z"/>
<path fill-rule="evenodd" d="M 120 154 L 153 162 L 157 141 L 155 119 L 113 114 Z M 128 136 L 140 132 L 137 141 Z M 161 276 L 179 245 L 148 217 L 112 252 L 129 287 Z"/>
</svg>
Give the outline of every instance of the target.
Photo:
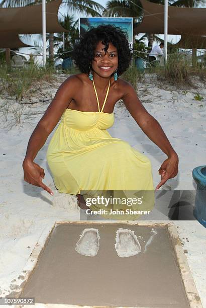
<svg viewBox="0 0 206 308">
<path fill-rule="evenodd" d="M 97 43 L 94 59 L 91 63 L 93 71 L 102 78 L 110 77 L 118 67 L 117 48 L 109 43 L 109 48 L 105 52 L 105 47 L 101 41 Z"/>
</svg>

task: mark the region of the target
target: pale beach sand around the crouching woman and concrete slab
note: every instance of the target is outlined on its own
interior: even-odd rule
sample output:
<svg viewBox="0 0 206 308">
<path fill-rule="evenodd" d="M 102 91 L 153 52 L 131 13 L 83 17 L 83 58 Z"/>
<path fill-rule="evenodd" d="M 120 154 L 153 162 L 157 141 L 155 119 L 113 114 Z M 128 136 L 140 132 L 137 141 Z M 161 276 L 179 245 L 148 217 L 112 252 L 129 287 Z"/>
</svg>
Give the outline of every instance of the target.
<svg viewBox="0 0 206 308">
<path fill-rule="evenodd" d="M 22 104 L 50 99 L 65 79 L 60 75 L 55 85 L 44 83 L 39 94 L 27 97 Z M 206 154 L 206 89 L 197 80 L 198 88 L 178 90 L 174 86 L 158 82 L 155 76 L 146 76 L 138 83 L 138 96 L 145 108 L 159 121 L 172 146 L 179 155 L 179 174 L 169 180 L 162 189 L 195 190 L 192 169 L 205 165 Z M 49 89 L 49 90 L 48 90 Z M 203 97 L 196 101 L 199 93 Z M 0 134 L 0 295 L 6 296 L 15 289 L 28 257 L 43 229 L 56 220 L 78 220 L 75 196 L 59 194 L 55 190 L 46 163 L 46 150 L 52 134 L 39 151 L 35 160 L 45 170 L 44 182 L 52 188 L 54 196 L 39 187 L 24 182 L 22 162 L 29 137 L 48 107 L 50 101 L 21 105 L 23 114 L 19 124 L 14 113 L 9 112 L 7 121 L 1 111 Z M 11 98 L 0 96 L 0 106 L 18 104 Z M 127 109 L 119 102 L 115 106 L 115 124 L 109 129 L 113 137 L 128 141 L 137 150 L 145 153 L 153 166 L 154 185 L 160 181 L 158 169 L 166 155 L 141 131 Z M 202 305 L 206 307 L 206 229 L 197 221 L 174 221 L 186 258 L 191 269 Z"/>
</svg>

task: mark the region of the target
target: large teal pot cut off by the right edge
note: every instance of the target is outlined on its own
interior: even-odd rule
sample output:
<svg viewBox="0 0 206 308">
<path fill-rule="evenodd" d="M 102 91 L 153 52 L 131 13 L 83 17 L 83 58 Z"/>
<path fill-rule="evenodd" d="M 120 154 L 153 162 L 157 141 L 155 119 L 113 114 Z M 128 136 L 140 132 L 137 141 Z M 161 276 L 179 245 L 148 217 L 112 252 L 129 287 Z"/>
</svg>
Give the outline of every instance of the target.
<svg viewBox="0 0 206 308">
<path fill-rule="evenodd" d="M 206 166 L 194 168 L 192 177 L 197 185 L 193 215 L 206 227 Z"/>
</svg>

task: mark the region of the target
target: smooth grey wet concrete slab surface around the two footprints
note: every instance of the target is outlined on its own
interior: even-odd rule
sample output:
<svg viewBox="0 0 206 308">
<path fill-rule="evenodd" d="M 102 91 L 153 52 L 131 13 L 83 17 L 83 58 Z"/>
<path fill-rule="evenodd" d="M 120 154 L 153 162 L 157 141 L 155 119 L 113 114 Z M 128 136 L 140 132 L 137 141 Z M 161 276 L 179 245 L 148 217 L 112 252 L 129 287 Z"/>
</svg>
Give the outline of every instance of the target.
<svg viewBox="0 0 206 308">
<path fill-rule="evenodd" d="M 100 236 L 95 257 L 75 251 L 87 227 L 88 223 L 56 226 L 21 297 L 41 303 L 189 307 L 166 227 L 92 223 Z M 115 237 L 121 227 L 134 230 L 139 254 L 118 256 Z"/>
</svg>

